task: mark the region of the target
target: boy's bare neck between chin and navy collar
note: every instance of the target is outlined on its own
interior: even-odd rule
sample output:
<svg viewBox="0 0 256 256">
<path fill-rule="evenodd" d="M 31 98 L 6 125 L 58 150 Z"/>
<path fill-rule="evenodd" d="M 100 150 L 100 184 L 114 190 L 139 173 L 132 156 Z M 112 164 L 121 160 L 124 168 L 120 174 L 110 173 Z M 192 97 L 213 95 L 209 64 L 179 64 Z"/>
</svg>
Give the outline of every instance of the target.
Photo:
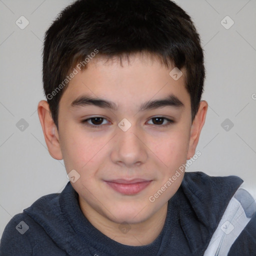
<svg viewBox="0 0 256 256">
<path fill-rule="evenodd" d="M 161 232 L 166 214 L 167 202 L 150 218 L 135 224 L 120 224 L 102 216 L 79 196 L 79 205 L 88 221 L 112 240 L 131 246 L 146 245 L 154 241 Z"/>
</svg>

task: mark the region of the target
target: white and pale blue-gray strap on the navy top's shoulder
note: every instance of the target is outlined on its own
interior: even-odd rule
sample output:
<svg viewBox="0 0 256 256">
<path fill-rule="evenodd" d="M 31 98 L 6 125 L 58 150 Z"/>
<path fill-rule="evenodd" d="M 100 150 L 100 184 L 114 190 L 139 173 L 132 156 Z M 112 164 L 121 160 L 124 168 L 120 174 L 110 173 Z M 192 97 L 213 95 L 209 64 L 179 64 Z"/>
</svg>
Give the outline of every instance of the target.
<svg viewBox="0 0 256 256">
<path fill-rule="evenodd" d="M 253 197 L 238 188 L 229 201 L 203 256 L 226 256 L 235 239 L 256 211 Z"/>
</svg>

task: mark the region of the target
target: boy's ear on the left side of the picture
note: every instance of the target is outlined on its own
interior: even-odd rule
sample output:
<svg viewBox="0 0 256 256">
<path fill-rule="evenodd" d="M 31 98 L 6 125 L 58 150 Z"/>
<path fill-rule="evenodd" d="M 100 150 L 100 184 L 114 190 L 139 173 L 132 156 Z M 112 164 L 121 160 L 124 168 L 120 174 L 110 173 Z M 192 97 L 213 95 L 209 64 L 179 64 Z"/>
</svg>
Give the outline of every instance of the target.
<svg viewBox="0 0 256 256">
<path fill-rule="evenodd" d="M 59 135 L 56 125 L 51 118 L 49 104 L 47 103 L 47 101 L 39 101 L 37 106 L 37 112 L 49 154 L 53 158 L 61 160 L 63 157 L 60 150 Z"/>
</svg>

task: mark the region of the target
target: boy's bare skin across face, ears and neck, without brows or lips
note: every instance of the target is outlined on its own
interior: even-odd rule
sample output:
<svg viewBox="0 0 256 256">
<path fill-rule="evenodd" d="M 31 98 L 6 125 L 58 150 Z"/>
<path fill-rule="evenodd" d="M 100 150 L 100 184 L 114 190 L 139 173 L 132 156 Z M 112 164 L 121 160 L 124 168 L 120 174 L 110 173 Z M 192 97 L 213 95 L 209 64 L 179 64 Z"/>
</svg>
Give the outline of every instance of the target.
<svg viewBox="0 0 256 256">
<path fill-rule="evenodd" d="M 63 159 L 66 172 L 75 169 L 80 177 L 71 182 L 79 194 L 79 205 L 91 224 L 111 239 L 127 245 L 152 242 L 164 225 L 167 201 L 177 191 L 184 173 L 153 202 L 149 200 L 179 166 L 195 153 L 204 124 L 207 102 L 201 101 L 191 121 L 185 70 L 174 80 L 157 58 L 133 54 L 130 63 L 117 58 L 106 62 L 95 57 L 87 69 L 69 82 L 59 102 L 58 130 L 48 103 L 38 103 L 38 116 L 50 155 Z M 89 94 L 113 101 L 117 110 L 98 106 L 74 106 L 78 96 Z M 175 95 L 181 107 L 164 106 L 138 111 L 141 103 Z M 101 123 L 91 117 L 103 117 Z M 167 126 L 165 117 L 173 120 Z M 123 131 L 118 123 L 126 118 L 131 127 Z M 94 122 L 93 122 L 94 121 Z M 99 123 L 99 124 L 98 124 Z M 101 125 L 93 128 L 92 125 Z M 96 125 L 95 125 L 96 124 Z M 89 126 L 91 125 L 91 126 Z M 121 194 L 104 180 L 144 178 L 149 185 L 137 194 Z M 130 230 L 123 233 L 120 223 Z"/>
</svg>

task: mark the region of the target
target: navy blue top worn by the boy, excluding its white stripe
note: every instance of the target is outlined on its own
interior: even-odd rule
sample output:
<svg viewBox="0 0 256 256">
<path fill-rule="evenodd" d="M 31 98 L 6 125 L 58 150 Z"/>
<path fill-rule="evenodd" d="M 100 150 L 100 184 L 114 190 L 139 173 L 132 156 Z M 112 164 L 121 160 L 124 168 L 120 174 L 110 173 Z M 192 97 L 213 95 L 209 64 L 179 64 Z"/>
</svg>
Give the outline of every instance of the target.
<svg viewBox="0 0 256 256">
<path fill-rule="evenodd" d="M 68 182 L 61 193 L 40 197 L 8 222 L 0 255 L 200 256 L 242 182 L 237 176 L 185 172 L 180 187 L 168 201 L 160 234 L 143 246 L 118 243 L 90 224 L 79 207 L 77 192 Z M 256 214 L 228 252 L 228 256 L 239 255 L 256 255 Z"/>
</svg>

